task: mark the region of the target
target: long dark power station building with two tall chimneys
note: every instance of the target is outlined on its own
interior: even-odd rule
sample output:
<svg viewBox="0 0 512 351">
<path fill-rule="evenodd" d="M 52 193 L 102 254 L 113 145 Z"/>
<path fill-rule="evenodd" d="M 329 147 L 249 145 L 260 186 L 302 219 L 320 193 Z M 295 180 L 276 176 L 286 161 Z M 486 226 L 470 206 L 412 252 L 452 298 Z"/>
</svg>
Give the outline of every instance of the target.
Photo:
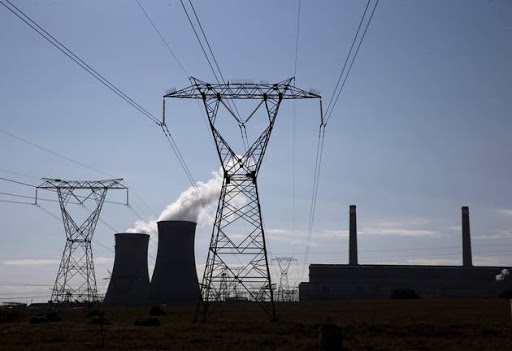
<svg viewBox="0 0 512 351">
<path fill-rule="evenodd" d="M 503 267 L 472 264 L 468 207 L 462 207 L 462 257 L 462 266 L 359 265 L 356 206 L 351 205 L 349 263 L 311 264 L 309 282 L 299 284 L 299 298 L 386 299 L 404 291 L 420 298 L 495 298 L 503 292 L 505 282 L 496 281 Z"/>
</svg>

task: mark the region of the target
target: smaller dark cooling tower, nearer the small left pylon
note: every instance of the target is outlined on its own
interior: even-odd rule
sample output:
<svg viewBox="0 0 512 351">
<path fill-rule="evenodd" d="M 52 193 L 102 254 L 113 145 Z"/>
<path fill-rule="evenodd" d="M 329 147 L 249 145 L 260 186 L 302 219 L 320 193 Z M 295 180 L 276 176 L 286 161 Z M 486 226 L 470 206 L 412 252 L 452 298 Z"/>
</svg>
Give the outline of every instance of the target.
<svg viewBox="0 0 512 351">
<path fill-rule="evenodd" d="M 103 303 L 144 305 L 149 292 L 149 235 L 120 233 L 115 238 L 114 268 Z"/>
</svg>

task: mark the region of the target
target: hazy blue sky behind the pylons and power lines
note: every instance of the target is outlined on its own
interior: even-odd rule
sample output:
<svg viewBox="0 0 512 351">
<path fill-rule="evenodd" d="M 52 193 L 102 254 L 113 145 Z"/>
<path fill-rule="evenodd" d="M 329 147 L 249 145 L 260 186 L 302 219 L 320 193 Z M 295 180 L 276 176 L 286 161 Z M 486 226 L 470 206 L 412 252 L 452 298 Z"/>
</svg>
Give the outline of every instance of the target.
<svg viewBox="0 0 512 351">
<path fill-rule="evenodd" d="M 189 83 L 135 0 L 13 3 L 156 116 L 165 90 Z M 187 73 L 213 81 L 180 3 L 141 3 Z M 301 3 L 297 86 L 319 90 L 324 103 L 365 4 Z M 227 79 L 293 75 L 298 1 L 194 5 Z M 123 177 L 133 208 L 146 220 L 190 186 L 154 124 L 3 6 L 0 42 L 0 129 L 90 167 L 0 133 L 1 177 L 30 184 L 41 177 Z M 326 129 L 309 261 L 347 262 L 348 206 L 356 204 L 361 262 L 460 264 L 460 207 L 467 205 L 474 263 L 511 266 L 510 62 L 509 1 L 381 0 Z M 296 103 L 295 119 L 293 111 L 292 102 L 282 106 L 259 185 L 272 255 L 301 260 L 319 117 L 311 101 Z M 211 179 L 219 161 L 200 106 L 168 103 L 167 123 L 195 179 Z M 5 181 L 0 192 L 33 194 Z M 43 207 L 59 215 L 55 204 Z M 109 226 L 121 232 L 138 219 L 108 204 L 102 218 L 108 226 L 99 223 L 95 239 L 111 249 Z M 65 241 L 62 223 L 34 206 L 11 203 L 0 203 L 0 219 L 0 299 L 48 294 L 49 287 L 20 285 L 53 284 Z M 210 231 L 197 232 L 198 264 Z M 113 254 L 97 243 L 104 290 Z M 292 269 L 300 272 L 302 265 Z M 296 279 L 307 279 L 297 272 Z"/>
</svg>

